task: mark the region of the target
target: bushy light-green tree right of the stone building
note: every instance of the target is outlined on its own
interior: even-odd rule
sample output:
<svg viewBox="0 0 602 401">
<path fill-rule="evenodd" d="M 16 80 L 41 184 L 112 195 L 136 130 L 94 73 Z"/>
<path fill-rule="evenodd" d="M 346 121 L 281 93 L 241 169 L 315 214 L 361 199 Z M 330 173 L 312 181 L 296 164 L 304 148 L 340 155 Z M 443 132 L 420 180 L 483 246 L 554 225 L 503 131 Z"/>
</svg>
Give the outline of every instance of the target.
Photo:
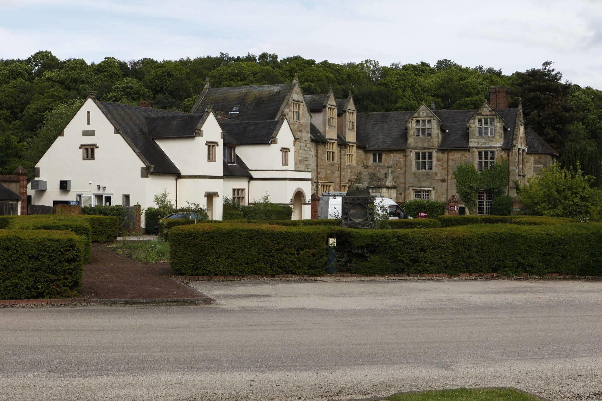
<svg viewBox="0 0 602 401">
<path fill-rule="evenodd" d="M 521 202 L 532 213 L 553 217 L 591 217 L 602 206 L 602 192 L 591 187 L 594 177 L 554 163 L 518 187 Z"/>
</svg>

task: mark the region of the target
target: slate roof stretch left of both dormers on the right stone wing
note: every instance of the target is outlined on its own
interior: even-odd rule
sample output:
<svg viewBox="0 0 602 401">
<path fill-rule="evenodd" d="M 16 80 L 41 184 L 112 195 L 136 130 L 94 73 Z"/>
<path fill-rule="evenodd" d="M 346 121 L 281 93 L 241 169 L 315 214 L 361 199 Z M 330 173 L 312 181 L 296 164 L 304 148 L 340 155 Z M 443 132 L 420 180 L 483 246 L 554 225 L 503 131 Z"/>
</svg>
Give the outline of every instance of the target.
<svg viewBox="0 0 602 401">
<path fill-rule="evenodd" d="M 408 131 L 406 121 L 414 111 L 380 111 L 358 113 L 356 140 L 358 146 L 368 149 L 406 149 Z"/>
</svg>

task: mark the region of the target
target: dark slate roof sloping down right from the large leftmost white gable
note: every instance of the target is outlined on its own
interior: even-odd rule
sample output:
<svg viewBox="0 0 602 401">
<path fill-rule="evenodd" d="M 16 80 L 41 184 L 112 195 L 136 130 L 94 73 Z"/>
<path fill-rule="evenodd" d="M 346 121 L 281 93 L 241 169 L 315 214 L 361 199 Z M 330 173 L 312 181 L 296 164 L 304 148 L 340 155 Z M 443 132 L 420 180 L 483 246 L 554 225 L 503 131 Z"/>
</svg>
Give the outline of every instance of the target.
<svg viewBox="0 0 602 401">
<path fill-rule="evenodd" d="M 138 107 L 126 104 L 100 102 L 110 120 L 119 126 L 126 140 L 131 143 L 135 152 L 139 152 L 151 166 L 153 172 L 164 174 L 179 174 L 180 170 L 167 157 L 163 149 L 149 137 L 146 117 L 182 116 L 180 111 L 159 110 L 151 107 Z"/>
</svg>

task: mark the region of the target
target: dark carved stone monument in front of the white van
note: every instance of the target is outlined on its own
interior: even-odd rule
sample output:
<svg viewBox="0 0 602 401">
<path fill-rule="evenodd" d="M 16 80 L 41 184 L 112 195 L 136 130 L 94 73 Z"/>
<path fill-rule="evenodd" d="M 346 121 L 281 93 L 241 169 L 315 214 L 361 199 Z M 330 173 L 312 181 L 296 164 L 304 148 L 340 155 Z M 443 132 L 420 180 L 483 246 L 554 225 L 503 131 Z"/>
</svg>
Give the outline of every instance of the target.
<svg viewBox="0 0 602 401">
<path fill-rule="evenodd" d="M 362 184 L 352 185 L 343 196 L 343 227 L 374 228 L 374 196 Z"/>
</svg>

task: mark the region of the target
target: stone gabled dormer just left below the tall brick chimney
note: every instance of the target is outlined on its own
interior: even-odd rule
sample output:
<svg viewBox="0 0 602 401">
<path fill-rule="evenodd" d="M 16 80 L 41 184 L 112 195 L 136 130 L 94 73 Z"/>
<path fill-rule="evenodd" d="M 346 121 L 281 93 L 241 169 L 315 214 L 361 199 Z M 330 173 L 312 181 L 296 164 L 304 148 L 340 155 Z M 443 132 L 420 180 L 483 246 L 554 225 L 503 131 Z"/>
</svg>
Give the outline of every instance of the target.
<svg viewBox="0 0 602 401">
<path fill-rule="evenodd" d="M 488 102 L 468 120 L 468 146 L 502 146 L 506 121 Z"/>
</svg>

